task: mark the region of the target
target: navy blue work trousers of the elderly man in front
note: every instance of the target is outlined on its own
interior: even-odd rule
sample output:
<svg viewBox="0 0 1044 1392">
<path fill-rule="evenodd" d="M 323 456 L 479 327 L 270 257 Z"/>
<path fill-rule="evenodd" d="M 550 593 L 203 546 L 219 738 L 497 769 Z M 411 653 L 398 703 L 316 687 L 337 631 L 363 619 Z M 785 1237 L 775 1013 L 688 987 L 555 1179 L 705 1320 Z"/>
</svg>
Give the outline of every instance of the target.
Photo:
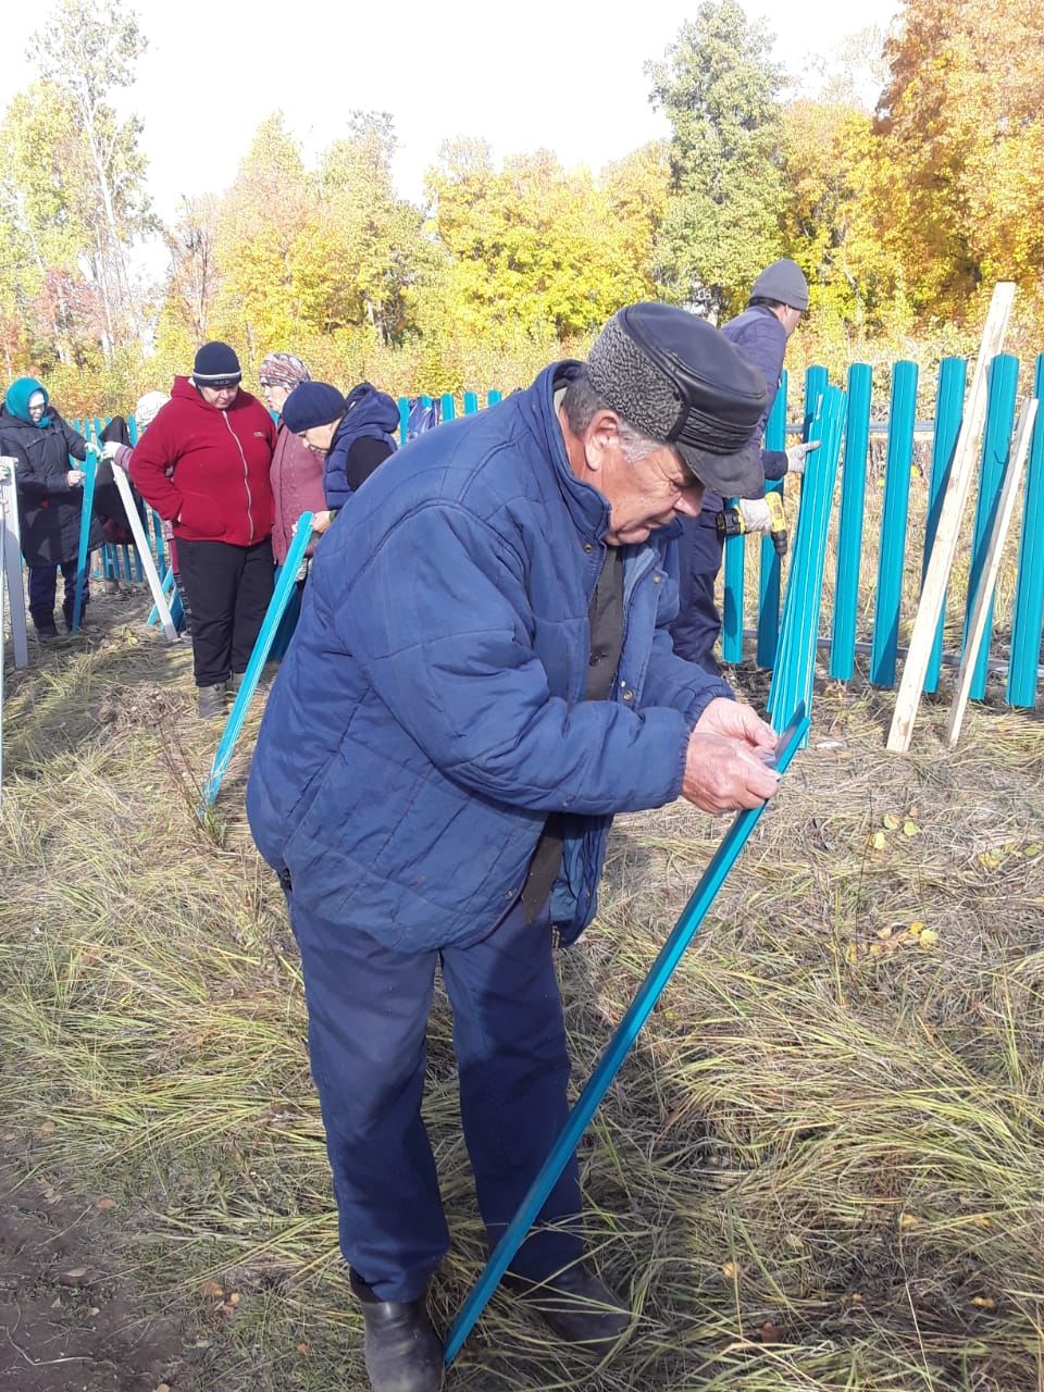
<svg viewBox="0 0 1044 1392">
<path fill-rule="evenodd" d="M 450 1244 L 420 1119 L 436 966 L 454 1013 L 461 1121 L 491 1243 L 565 1125 L 569 1057 L 547 912 L 521 906 L 472 947 L 393 952 L 349 923 L 295 908 L 312 1076 L 341 1250 L 381 1300 L 418 1299 Z M 582 1251 L 575 1158 L 511 1270 L 543 1279 Z M 546 1226 L 554 1225 L 554 1226 Z"/>
</svg>

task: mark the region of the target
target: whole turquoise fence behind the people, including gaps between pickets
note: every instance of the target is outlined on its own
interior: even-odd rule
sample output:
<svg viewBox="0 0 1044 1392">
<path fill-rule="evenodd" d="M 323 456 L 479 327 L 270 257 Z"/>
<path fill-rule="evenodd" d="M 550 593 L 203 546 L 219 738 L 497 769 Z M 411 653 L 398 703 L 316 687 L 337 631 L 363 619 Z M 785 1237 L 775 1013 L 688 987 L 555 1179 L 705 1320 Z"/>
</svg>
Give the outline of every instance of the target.
<svg viewBox="0 0 1044 1392">
<path fill-rule="evenodd" d="M 960 660 L 963 636 L 959 626 L 966 626 L 967 596 L 974 593 L 976 580 L 986 564 L 990 530 L 1009 464 L 1019 372 L 1019 361 L 1009 355 L 1001 355 L 990 365 L 974 522 L 965 551 L 967 565 L 958 565 L 951 583 L 949 612 L 944 612 L 940 621 L 928 665 L 927 690 L 937 689 L 945 665 L 955 665 Z M 837 681 L 851 681 L 856 672 L 856 660 L 866 657 L 869 679 L 877 686 L 894 686 L 903 653 L 903 633 L 909 632 L 913 622 L 960 432 L 967 363 L 963 358 L 947 358 L 940 365 L 931 394 L 935 413 L 930 420 L 916 418 L 917 379 L 915 363 L 895 363 L 887 401 L 874 402 L 869 365 L 853 363 L 844 384 L 831 384 L 825 367 L 813 366 L 805 376 L 803 398 L 796 402 L 789 397 L 789 380 L 784 373 L 766 427 L 766 444 L 773 450 L 782 448 L 788 434 L 818 438 L 827 393 L 844 386 L 846 413 L 842 419 L 839 489 L 831 489 L 831 497 L 824 503 L 813 486 L 817 455 L 821 451 L 809 455 L 809 482 L 800 491 L 793 483 L 773 484 L 784 489 L 792 523 L 796 525 L 800 509 L 806 505 L 806 496 L 816 496 L 816 509 L 821 512 L 818 525 L 830 529 L 832 546 L 825 550 L 818 649 L 825 656 L 828 675 Z M 924 386 L 920 384 L 922 390 Z M 1038 397 L 1044 393 L 1044 355 L 1034 365 L 1033 390 Z M 413 400 L 426 406 L 437 401 L 443 422 L 452 420 L 458 413 L 458 401 L 451 394 Z M 494 406 L 500 401 L 501 393 L 490 391 L 484 405 Z M 793 409 L 788 409 L 788 402 Z M 405 441 L 411 400 L 401 397 L 398 405 L 400 434 Z M 469 416 L 483 406 L 476 393 L 466 391 L 459 408 L 462 415 Z M 831 412 L 827 422 L 830 430 L 841 429 L 837 408 L 831 406 Z M 789 426 L 788 416 L 793 420 Z M 131 438 L 136 440 L 134 419 L 128 423 Z M 97 440 L 103 427 L 100 419 L 74 420 L 72 425 L 90 440 Z M 881 438 L 883 468 L 880 459 L 871 461 L 871 447 Z M 919 443 L 920 450 L 915 443 Z M 924 457 L 923 462 L 919 455 Z M 150 508 L 145 508 L 145 512 L 149 544 L 157 569 L 170 587 L 173 582 L 160 519 Z M 738 663 L 748 657 L 759 667 L 775 668 L 780 597 L 788 582 L 789 568 L 791 557 L 781 562 L 767 537 L 736 537 L 727 544 L 722 587 L 722 656 L 727 661 Z M 1008 569 L 1009 580 L 1013 574 L 1008 606 L 1012 615 L 1011 632 L 994 632 L 991 614 L 988 640 L 983 644 L 972 693 L 981 699 L 988 672 L 999 671 L 1005 674 L 1006 700 L 1012 706 L 1031 709 L 1040 699 L 1044 677 L 1044 412 L 1037 418 L 1030 447 L 1018 558 Z M 132 547 L 107 546 L 97 574 L 124 580 L 142 578 L 141 562 Z M 807 576 L 800 579 L 800 585 L 809 583 Z M 812 603 L 812 597 L 809 601 Z M 960 612 L 956 606 L 960 606 Z"/>
</svg>

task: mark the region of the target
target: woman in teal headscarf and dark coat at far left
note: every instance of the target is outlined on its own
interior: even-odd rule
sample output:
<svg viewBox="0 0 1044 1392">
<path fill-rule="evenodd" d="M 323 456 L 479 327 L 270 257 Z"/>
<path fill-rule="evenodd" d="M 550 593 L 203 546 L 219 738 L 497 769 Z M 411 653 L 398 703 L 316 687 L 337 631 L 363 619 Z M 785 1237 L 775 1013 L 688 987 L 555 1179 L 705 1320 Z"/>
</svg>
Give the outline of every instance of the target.
<svg viewBox="0 0 1044 1392">
<path fill-rule="evenodd" d="M 65 582 L 61 612 L 72 631 L 77 594 L 79 529 L 84 515 L 84 470 L 70 468 L 70 455 L 86 459 L 88 443 L 52 406 L 35 377 L 11 383 L 0 411 L 0 454 L 17 461 L 18 519 L 22 555 L 29 571 L 29 614 L 42 643 L 53 643 L 57 571 Z M 102 546 L 102 523 L 90 518 L 88 555 Z M 89 569 L 89 567 L 88 567 Z M 86 610 L 90 590 L 84 576 Z M 81 622 L 85 614 L 81 614 Z"/>
</svg>

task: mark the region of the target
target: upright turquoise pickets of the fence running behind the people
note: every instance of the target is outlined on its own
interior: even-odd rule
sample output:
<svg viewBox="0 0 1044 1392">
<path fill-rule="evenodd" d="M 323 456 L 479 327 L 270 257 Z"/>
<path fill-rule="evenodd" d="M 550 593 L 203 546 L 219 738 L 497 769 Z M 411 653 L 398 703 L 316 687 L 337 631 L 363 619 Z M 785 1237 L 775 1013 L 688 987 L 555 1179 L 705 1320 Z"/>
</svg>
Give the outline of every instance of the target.
<svg viewBox="0 0 1044 1392">
<path fill-rule="evenodd" d="M 828 509 L 827 525 L 835 533 L 835 575 L 834 606 L 824 606 L 824 628 L 820 633 L 820 647 L 827 650 L 827 671 L 831 678 L 846 682 L 855 672 L 857 651 L 869 653 L 869 679 L 874 686 L 895 686 L 896 663 L 902 656 L 899 632 L 902 619 L 903 574 L 908 564 L 920 560 L 923 576 L 927 557 L 931 551 L 938 525 L 942 497 L 945 494 L 949 469 L 954 461 L 958 434 L 965 408 L 967 384 L 967 362 L 963 358 L 945 358 L 940 363 L 935 388 L 935 415 L 930 420 L 919 420 L 916 415 L 919 369 L 913 362 L 896 362 L 891 373 L 887 426 L 876 423 L 873 415 L 871 369 L 867 363 L 852 363 L 848 369 L 845 391 L 848 411 L 842 447 L 839 501 Z M 1002 354 L 990 363 L 990 388 L 986 429 L 983 433 L 981 458 L 979 466 L 979 491 L 976 498 L 972 555 L 967 590 L 963 597 L 963 633 L 974 604 L 976 589 L 986 565 L 992 522 L 1004 487 L 1005 470 L 1009 464 L 1012 432 L 1018 405 L 1019 359 Z M 816 416 L 818 402 L 828 384 L 825 367 L 809 367 L 805 374 L 803 413 L 800 423 L 788 426 L 788 374 L 782 374 L 775 405 L 766 426 L 766 447 L 782 450 L 788 433 L 800 432 L 807 436 Z M 1034 395 L 1044 391 L 1044 354 L 1036 359 Z M 486 405 L 500 402 L 501 393 L 490 391 Z M 411 412 L 418 405 L 430 408 L 437 402 L 440 422 L 452 420 L 457 415 L 457 398 L 441 397 L 400 397 L 400 436 L 405 441 Z M 462 413 L 473 415 L 480 409 L 479 395 L 464 393 Z M 97 438 L 107 422 L 74 420 L 72 425 L 89 438 Z M 136 440 L 136 425 L 128 418 L 131 440 Z M 878 560 L 874 589 L 873 625 L 869 640 L 857 636 L 857 615 L 860 606 L 859 582 L 862 551 L 866 530 L 867 461 L 870 437 L 881 433 L 885 437 L 884 496 L 878 536 Z M 927 525 L 920 555 L 909 546 L 909 501 L 913 475 L 915 436 L 931 437 L 931 466 L 927 484 Z M 809 457 L 809 468 L 814 468 L 814 454 Z M 782 487 L 782 483 L 771 484 Z M 160 519 L 146 508 L 146 535 L 163 574 L 167 557 L 161 536 Z M 745 639 L 754 639 L 754 656 L 759 667 L 775 667 L 780 642 L 780 600 L 782 567 L 775 548 L 764 537 L 757 548 L 757 604 L 753 631 L 745 625 L 746 614 L 746 564 L 748 553 L 742 537 L 728 543 L 725 548 L 724 590 L 722 590 L 722 657 L 727 663 L 743 660 Z M 102 554 L 102 572 L 111 579 L 141 580 L 141 562 L 134 555 L 134 547 L 106 546 Z M 912 618 L 912 615 L 906 615 Z M 981 700 L 986 695 L 987 674 L 1006 674 L 1005 699 L 1012 706 L 1031 709 L 1036 704 L 1041 675 L 1041 628 L 1044 624 L 1044 413 L 1037 416 L 1033 432 L 1026 472 L 1019 537 L 1018 569 L 1015 579 L 1015 601 L 1012 614 L 1011 643 L 1008 654 L 991 654 L 992 612 L 976 665 L 972 697 Z M 944 665 L 955 664 L 960 653 L 944 653 L 945 612 L 940 619 L 935 646 L 928 667 L 924 689 L 938 688 Z M 963 644 L 963 638 L 962 638 Z"/>
</svg>

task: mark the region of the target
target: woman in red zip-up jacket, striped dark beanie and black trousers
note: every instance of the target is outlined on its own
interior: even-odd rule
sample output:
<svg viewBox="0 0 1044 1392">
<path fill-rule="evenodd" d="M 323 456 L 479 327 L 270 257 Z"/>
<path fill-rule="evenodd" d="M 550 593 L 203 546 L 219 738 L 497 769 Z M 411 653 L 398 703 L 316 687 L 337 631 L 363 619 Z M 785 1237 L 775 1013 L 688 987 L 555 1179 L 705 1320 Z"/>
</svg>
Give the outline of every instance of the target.
<svg viewBox="0 0 1044 1392">
<path fill-rule="evenodd" d="M 228 344 L 203 344 L 131 457 L 139 493 L 174 528 L 205 720 L 242 679 L 271 599 L 276 426 L 241 376 Z"/>
</svg>

